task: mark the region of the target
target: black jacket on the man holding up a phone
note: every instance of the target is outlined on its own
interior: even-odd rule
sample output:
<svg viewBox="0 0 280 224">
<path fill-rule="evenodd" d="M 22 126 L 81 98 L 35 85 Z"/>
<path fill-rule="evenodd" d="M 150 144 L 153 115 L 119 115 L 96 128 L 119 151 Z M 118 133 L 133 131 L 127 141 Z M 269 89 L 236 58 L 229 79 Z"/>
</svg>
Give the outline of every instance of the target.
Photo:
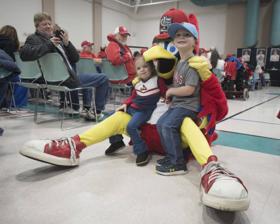
<svg viewBox="0 0 280 224">
<path fill-rule="evenodd" d="M 70 41 L 67 47 L 63 44 L 61 44 L 61 46 L 63 47 L 70 64 L 74 64 L 79 61 L 79 54 Z M 39 31 L 36 31 L 34 34 L 31 34 L 26 38 L 24 46 L 19 52 L 19 57 L 23 62 L 29 62 L 38 60 L 47 53 L 59 53 L 63 58 L 64 64 L 70 74 L 70 77 L 65 81 L 64 85 L 71 87 L 80 82 L 75 71 L 69 68 L 62 52 L 50 41 L 50 37 Z"/>
</svg>

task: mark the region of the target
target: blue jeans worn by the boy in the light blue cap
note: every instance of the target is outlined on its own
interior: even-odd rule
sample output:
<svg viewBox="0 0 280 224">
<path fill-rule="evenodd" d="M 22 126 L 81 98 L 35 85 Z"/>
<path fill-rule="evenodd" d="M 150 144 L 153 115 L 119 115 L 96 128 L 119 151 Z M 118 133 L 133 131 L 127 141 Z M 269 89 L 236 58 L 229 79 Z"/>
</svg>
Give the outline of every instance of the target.
<svg viewBox="0 0 280 224">
<path fill-rule="evenodd" d="M 156 123 L 164 152 L 173 164 L 185 163 L 181 146 L 180 127 L 186 117 L 194 120 L 197 114 L 198 112 L 183 107 L 169 108 Z"/>
</svg>

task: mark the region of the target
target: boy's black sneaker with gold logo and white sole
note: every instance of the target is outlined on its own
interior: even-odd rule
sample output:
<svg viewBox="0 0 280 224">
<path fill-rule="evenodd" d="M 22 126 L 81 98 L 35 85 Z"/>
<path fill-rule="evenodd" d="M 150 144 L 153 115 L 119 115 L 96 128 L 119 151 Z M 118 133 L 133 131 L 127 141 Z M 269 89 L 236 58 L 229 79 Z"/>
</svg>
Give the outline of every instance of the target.
<svg viewBox="0 0 280 224">
<path fill-rule="evenodd" d="M 175 165 L 171 162 L 167 162 L 164 165 L 156 166 L 156 172 L 165 176 L 183 175 L 187 173 L 187 170 L 186 163 Z"/>
</svg>

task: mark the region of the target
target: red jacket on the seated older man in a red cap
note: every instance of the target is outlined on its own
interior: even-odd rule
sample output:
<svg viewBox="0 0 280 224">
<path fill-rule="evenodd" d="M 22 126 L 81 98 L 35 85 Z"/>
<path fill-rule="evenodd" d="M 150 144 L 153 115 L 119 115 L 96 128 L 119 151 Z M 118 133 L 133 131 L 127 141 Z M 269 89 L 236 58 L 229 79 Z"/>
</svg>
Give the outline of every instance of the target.
<svg viewBox="0 0 280 224">
<path fill-rule="evenodd" d="M 121 83 L 127 84 L 135 78 L 135 68 L 133 54 L 131 53 L 127 45 L 121 45 L 113 34 L 107 36 L 110 43 L 105 49 L 106 58 L 112 65 L 122 65 L 124 64 L 126 71 L 128 73 L 128 78 L 123 80 Z M 121 80 L 110 81 L 110 83 L 120 83 Z"/>
</svg>

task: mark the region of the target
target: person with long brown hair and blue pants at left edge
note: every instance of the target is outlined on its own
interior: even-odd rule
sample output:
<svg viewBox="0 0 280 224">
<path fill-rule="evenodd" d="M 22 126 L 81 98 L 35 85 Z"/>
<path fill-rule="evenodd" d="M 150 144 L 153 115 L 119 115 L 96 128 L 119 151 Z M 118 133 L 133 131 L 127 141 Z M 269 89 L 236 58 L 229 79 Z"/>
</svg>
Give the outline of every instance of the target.
<svg viewBox="0 0 280 224">
<path fill-rule="evenodd" d="M 4 25 L 0 30 L 0 49 L 4 50 L 7 54 L 10 55 L 10 57 L 15 60 L 14 52 L 16 52 L 19 49 L 19 41 L 17 37 L 17 32 L 15 27 L 11 25 Z M 11 82 L 18 82 L 20 81 L 19 77 L 14 77 L 10 80 Z M 23 108 L 22 106 L 27 106 L 27 95 L 28 95 L 28 89 L 23 86 L 15 85 L 14 86 L 14 101 L 12 101 L 12 107 L 10 110 L 9 101 L 6 97 L 8 91 L 8 85 L 4 92 L 2 92 L 2 95 L 0 96 L 0 108 L 1 110 L 9 111 L 10 113 L 26 113 L 30 111 L 30 109 Z"/>
</svg>

